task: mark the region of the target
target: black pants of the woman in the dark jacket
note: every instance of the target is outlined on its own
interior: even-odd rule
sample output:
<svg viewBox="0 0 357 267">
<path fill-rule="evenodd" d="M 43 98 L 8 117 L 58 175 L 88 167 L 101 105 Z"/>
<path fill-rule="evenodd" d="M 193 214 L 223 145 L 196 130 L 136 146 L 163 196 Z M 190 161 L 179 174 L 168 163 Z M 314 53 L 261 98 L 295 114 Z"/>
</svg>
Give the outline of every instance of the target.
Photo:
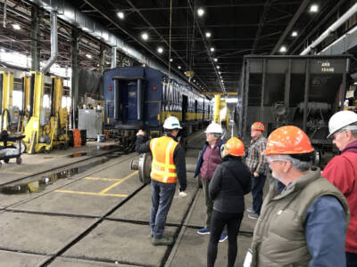
<svg viewBox="0 0 357 267">
<path fill-rule="evenodd" d="M 228 264 L 234 266 L 237 258 L 237 235 L 243 214 L 220 213 L 213 209 L 211 222 L 211 236 L 207 248 L 207 266 L 212 267 L 216 262 L 217 245 L 225 225 L 228 230 Z"/>
</svg>

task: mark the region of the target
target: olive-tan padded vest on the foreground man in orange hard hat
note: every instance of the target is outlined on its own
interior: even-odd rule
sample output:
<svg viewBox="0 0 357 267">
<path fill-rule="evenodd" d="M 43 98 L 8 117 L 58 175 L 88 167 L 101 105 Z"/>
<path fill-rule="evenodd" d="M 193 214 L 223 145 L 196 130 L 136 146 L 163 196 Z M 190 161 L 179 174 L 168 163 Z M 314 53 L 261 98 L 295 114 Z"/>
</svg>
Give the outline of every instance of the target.
<svg viewBox="0 0 357 267">
<path fill-rule="evenodd" d="M 277 190 L 270 190 L 255 225 L 251 266 L 308 266 L 311 255 L 303 227 L 306 211 L 314 200 L 327 195 L 339 200 L 348 225 L 347 201 L 334 185 L 320 176 L 320 169 L 299 177 L 280 195 Z"/>
</svg>

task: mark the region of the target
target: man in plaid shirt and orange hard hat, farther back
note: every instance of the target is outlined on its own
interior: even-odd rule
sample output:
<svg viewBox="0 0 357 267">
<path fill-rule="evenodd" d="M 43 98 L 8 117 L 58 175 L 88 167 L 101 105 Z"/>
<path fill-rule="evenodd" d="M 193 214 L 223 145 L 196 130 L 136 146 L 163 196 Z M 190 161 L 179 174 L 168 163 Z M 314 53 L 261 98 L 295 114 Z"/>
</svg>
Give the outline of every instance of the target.
<svg viewBox="0 0 357 267">
<path fill-rule="evenodd" d="M 253 123 L 251 127 L 252 141 L 245 158 L 245 164 L 249 167 L 252 174 L 253 207 L 246 209 L 249 213 L 248 217 L 251 219 L 257 219 L 259 214 L 261 214 L 262 190 L 267 178 L 265 174 L 266 164 L 262 156 L 267 139 L 262 135 L 263 131 L 265 131 L 265 128 L 261 122 Z"/>
</svg>

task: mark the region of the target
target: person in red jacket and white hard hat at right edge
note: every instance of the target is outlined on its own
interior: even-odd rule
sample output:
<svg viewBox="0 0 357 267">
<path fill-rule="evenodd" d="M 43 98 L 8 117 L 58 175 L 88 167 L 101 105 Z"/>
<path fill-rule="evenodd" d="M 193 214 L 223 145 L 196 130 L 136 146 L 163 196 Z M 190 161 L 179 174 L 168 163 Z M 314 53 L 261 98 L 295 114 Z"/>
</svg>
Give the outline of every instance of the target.
<svg viewBox="0 0 357 267">
<path fill-rule="evenodd" d="M 334 184 L 347 199 L 351 213 L 346 233 L 347 267 L 357 266 L 357 114 L 343 110 L 328 122 L 329 134 L 341 155 L 332 158 L 322 176 Z"/>
</svg>

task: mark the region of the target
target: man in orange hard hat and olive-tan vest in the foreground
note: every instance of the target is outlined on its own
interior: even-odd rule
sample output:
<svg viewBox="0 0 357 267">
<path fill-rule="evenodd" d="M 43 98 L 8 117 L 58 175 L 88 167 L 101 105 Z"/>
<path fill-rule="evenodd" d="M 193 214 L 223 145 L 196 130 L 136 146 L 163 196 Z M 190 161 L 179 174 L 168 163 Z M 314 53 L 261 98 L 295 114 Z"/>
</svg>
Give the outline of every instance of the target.
<svg viewBox="0 0 357 267">
<path fill-rule="evenodd" d="M 264 199 L 245 266 L 345 266 L 347 201 L 311 166 L 312 152 L 296 126 L 270 134 L 262 154 L 286 188 L 272 187 Z"/>
</svg>

